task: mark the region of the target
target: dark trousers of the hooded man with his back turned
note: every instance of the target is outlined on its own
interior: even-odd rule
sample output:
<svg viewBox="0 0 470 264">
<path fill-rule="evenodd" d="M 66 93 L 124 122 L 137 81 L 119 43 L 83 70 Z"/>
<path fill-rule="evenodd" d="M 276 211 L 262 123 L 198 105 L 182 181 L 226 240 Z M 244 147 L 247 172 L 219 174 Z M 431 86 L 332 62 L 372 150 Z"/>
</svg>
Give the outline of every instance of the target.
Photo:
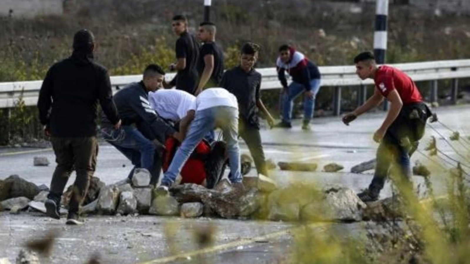
<svg viewBox="0 0 470 264">
<path fill-rule="evenodd" d="M 51 143 L 57 163 L 51 180 L 51 194 L 55 196 L 54 198 L 60 199 L 74 168 L 77 178 L 73 183 L 69 211 L 76 213 L 88 191 L 90 179 L 96 168 L 98 141 L 96 137 L 51 137 Z"/>
</svg>

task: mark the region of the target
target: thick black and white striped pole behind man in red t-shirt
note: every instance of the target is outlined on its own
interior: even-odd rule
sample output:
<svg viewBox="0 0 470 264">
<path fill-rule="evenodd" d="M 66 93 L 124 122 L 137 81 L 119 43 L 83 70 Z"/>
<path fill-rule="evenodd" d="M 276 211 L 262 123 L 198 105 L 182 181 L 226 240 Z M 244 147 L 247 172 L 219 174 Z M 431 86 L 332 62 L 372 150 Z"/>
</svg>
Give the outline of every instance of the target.
<svg viewBox="0 0 470 264">
<path fill-rule="evenodd" d="M 388 0 L 376 0 L 376 24 L 374 32 L 374 55 L 378 64 L 385 63 L 387 53 L 387 16 Z M 388 110 L 389 102 L 384 100 L 384 110 Z"/>
</svg>

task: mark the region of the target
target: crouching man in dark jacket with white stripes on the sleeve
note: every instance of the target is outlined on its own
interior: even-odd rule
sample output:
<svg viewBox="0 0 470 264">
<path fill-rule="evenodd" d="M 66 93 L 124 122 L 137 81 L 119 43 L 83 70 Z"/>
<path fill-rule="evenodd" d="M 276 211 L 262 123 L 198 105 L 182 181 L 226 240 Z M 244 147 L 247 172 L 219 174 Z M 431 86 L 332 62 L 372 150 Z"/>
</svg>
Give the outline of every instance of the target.
<svg viewBox="0 0 470 264">
<path fill-rule="evenodd" d="M 140 82 L 131 83 L 114 95 L 122 118 L 120 129 L 114 129 L 106 116 L 102 119 L 103 138 L 134 165 L 128 179 L 132 179 L 136 168 L 147 169 L 151 174 L 151 185 L 156 185 L 160 176 L 165 138 L 172 136 L 181 141 L 180 133 L 157 116 L 149 103 L 149 92 L 162 87 L 164 75 L 160 66 L 150 64 Z"/>
</svg>

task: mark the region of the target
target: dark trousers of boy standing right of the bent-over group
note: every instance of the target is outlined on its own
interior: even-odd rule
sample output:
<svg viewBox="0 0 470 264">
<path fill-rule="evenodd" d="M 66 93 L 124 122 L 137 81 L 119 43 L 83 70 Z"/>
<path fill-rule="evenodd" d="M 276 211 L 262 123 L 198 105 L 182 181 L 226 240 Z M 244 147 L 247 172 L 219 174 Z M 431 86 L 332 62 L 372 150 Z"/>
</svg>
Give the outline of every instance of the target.
<svg viewBox="0 0 470 264">
<path fill-rule="evenodd" d="M 259 129 L 250 126 L 243 126 L 239 128 L 238 135 L 243 140 L 245 140 L 245 143 L 250 150 L 250 154 L 253 157 L 253 161 L 255 162 L 256 171 L 265 176 L 268 176 L 266 159 L 263 145 L 261 144 L 261 135 L 259 134 Z"/>
</svg>

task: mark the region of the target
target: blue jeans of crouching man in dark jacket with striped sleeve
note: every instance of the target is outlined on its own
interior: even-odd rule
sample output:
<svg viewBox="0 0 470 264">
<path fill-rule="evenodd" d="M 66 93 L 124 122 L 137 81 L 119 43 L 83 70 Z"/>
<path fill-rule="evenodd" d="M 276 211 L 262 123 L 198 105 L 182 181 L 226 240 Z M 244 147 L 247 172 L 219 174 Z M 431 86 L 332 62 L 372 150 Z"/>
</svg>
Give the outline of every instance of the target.
<svg viewBox="0 0 470 264">
<path fill-rule="evenodd" d="M 130 125 L 123 125 L 119 130 L 103 128 L 101 133 L 104 140 L 117 148 L 134 165 L 134 168 L 127 176 L 129 179 L 132 179 L 136 168 L 144 168 L 152 175 L 150 184 L 157 184 L 162 167 L 162 158 L 161 155 L 156 153 L 155 145 L 151 140 L 144 137 L 137 128 Z"/>
</svg>

